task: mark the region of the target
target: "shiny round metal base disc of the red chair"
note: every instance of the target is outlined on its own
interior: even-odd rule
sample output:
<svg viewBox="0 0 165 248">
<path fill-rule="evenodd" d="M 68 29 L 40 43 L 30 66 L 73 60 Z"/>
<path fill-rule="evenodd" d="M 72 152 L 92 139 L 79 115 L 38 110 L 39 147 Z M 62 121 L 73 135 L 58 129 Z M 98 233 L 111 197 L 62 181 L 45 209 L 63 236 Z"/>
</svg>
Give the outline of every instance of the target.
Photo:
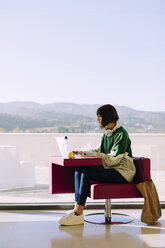
<svg viewBox="0 0 165 248">
<path fill-rule="evenodd" d="M 111 219 L 109 221 L 105 220 L 104 213 L 96 213 L 96 214 L 87 214 L 84 216 L 84 221 L 91 223 L 91 224 L 109 224 L 109 225 L 116 225 L 116 224 L 127 224 L 134 221 L 133 217 L 125 214 L 112 214 Z"/>
</svg>

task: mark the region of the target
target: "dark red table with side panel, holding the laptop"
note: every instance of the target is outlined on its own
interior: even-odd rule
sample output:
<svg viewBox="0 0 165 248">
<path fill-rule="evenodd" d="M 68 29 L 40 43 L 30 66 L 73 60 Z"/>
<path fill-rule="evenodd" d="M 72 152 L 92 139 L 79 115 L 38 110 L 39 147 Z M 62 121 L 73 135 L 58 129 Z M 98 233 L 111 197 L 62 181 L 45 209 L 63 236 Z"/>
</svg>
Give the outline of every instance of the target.
<svg viewBox="0 0 165 248">
<path fill-rule="evenodd" d="M 74 172 L 77 166 L 101 166 L 101 158 L 50 158 L 50 193 L 74 193 Z"/>
</svg>

